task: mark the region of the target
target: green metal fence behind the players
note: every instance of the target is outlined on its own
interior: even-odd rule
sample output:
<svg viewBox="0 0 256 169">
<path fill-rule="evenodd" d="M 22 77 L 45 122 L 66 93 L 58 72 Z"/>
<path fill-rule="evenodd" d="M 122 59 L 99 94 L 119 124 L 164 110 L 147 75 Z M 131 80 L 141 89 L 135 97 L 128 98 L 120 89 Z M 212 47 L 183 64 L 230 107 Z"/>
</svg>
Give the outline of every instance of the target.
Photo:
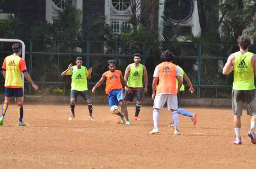
<svg viewBox="0 0 256 169">
<path fill-rule="evenodd" d="M 148 96 L 151 96 L 151 84 L 155 66 L 161 62 L 161 44 L 124 43 L 101 41 L 56 41 L 56 40 L 23 40 L 25 61 L 32 79 L 39 85 L 39 91 L 34 92 L 25 82 L 24 93 L 28 95 L 69 95 L 70 77 L 60 77 L 60 73 L 67 69 L 69 63 L 75 64 L 79 55 L 84 58 L 84 65 L 93 68 L 89 89 L 97 82 L 103 72 L 108 70 L 107 61 L 117 60 L 117 69 L 123 73 L 128 64 L 133 62 L 134 53 L 142 54 L 142 63 L 146 65 L 149 77 Z M 1 42 L 1 65 L 10 52 L 12 43 Z M 166 49 L 175 54 L 174 62 L 179 64 L 191 79 L 196 92 L 185 97 L 229 98 L 232 91 L 232 74 L 224 76 L 222 68 L 230 53 L 237 50 L 236 44 L 198 44 L 198 43 L 170 43 Z M 165 50 L 165 49 L 164 49 Z M 256 45 L 250 51 L 256 53 Z M 1 76 L 1 90 L 4 92 L 4 79 Z M 184 82 L 186 84 L 186 82 Z M 186 86 L 187 87 L 187 86 Z M 104 95 L 104 85 L 100 87 L 98 95 Z"/>
</svg>

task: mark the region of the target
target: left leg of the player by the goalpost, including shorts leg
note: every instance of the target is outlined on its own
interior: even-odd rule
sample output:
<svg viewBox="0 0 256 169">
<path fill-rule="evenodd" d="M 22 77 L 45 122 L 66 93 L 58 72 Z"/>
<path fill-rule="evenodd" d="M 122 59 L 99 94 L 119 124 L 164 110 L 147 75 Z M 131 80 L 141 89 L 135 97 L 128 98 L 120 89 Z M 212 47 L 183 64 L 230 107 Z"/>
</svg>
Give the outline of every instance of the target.
<svg viewBox="0 0 256 169">
<path fill-rule="evenodd" d="M 11 101 L 13 95 L 14 95 L 14 93 L 13 93 L 12 88 L 5 88 L 4 89 L 4 103 L 2 105 L 1 118 L 0 118 L 0 125 L 1 126 L 4 124 L 5 114 L 6 114 L 9 102 Z"/>
</svg>

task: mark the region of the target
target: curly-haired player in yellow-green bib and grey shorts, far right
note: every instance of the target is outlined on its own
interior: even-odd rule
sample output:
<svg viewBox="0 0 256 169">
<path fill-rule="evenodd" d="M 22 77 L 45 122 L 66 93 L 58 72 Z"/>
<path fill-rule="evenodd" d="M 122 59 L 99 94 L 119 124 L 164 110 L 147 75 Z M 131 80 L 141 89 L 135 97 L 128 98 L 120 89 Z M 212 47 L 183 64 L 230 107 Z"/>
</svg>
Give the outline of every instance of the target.
<svg viewBox="0 0 256 169">
<path fill-rule="evenodd" d="M 236 138 L 234 144 L 242 144 L 241 140 L 241 116 L 243 104 L 247 113 L 251 115 L 251 128 L 248 136 L 251 142 L 256 144 L 254 128 L 256 125 L 256 93 L 254 76 L 256 73 L 256 55 L 248 51 L 251 40 L 247 35 L 241 35 L 237 39 L 240 51 L 232 53 L 223 68 L 223 74 L 234 71 L 232 90 L 232 108 L 234 112 L 234 129 Z"/>
</svg>

